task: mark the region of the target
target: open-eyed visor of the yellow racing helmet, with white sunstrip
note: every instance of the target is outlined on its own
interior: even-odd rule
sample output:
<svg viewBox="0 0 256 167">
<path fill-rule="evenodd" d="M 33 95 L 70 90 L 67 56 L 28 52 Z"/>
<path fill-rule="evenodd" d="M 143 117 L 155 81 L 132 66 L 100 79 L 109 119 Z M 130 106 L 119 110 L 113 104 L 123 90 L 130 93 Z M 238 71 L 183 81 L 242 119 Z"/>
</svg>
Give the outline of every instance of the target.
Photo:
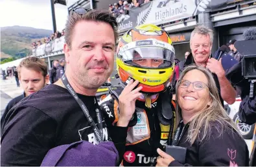
<svg viewBox="0 0 256 167">
<path fill-rule="evenodd" d="M 142 46 L 119 52 L 124 63 L 143 68 L 166 68 L 172 66 L 174 50 L 156 46 Z"/>
</svg>

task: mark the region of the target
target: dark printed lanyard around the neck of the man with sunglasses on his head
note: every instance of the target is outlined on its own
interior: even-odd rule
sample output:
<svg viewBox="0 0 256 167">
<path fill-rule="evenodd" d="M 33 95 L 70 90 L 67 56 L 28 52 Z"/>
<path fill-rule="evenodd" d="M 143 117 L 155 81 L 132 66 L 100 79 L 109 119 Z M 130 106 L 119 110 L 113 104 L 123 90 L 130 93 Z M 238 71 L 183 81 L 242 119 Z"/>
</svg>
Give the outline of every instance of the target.
<svg viewBox="0 0 256 167">
<path fill-rule="evenodd" d="M 81 107 L 82 111 L 84 112 L 84 115 L 86 115 L 87 121 L 89 122 L 90 126 L 93 127 L 93 133 L 97 137 L 97 141 L 102 142 L 103 141 L 102 120 L 101 120 L 101 117 L 100 117 L 100 110 L 99 110 L 99 108 L 97 108 L 95 110 L 96 111 L 96 115 L 97 115 L 97 121 L 98 121 L 98 124 L 99 124 L 99 128 L 98 128 L 96 126 L 96 124 L 94 123 L 93 119 L 91 118 L 91 115 L 89 115 L 89 111 L 88 111 L 86 105 L 78 97 L 78 95 L 76 94 L 75 90 L 73 90 L 72 86 L 69 84 L 69 81 L 67 81 L 67 77 L 66 77 L 65 74 L 62 75 L 62 83 L 64 84 L 65 88 L 67 88 L 69 93 L 71 93 L 71 95 L 73 95 L 74 99 L 79 104 L 79 106 Z"/>
</svg>

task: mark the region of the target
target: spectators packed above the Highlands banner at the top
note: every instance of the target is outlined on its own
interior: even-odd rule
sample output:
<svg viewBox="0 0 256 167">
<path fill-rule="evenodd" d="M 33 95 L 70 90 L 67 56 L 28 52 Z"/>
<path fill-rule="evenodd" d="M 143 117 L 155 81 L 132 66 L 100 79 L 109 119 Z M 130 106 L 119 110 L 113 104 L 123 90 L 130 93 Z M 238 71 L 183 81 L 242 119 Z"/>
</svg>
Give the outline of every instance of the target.
<svg viewBox="0 0 256 167">
<path fill-rule="evenodd" d="M 130 8 L 139 7 L 143 3 L 148 3 L 152 0 L 119 0 L 118 3 L 109 5 L 110 13 L 114 17 L 118 17 L 121 14 L 129 14 Z"/>
</svg>

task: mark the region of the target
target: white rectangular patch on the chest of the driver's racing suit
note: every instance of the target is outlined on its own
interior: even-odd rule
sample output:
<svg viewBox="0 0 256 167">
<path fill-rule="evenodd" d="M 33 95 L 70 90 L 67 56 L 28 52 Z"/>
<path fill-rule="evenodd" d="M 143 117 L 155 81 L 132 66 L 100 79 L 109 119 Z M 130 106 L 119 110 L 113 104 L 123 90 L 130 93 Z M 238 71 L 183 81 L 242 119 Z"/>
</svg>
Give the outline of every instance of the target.
<svg viewBox="0 0 256 167">
<path fill-rule="evenodd" d="M 144 112 L 137 113 L 138 119 L 137 124 L 133 126 L 134 135 L 147 135 L 148 134 L 148 126 L 146 124 L 146 115 Z"/>
</svg>

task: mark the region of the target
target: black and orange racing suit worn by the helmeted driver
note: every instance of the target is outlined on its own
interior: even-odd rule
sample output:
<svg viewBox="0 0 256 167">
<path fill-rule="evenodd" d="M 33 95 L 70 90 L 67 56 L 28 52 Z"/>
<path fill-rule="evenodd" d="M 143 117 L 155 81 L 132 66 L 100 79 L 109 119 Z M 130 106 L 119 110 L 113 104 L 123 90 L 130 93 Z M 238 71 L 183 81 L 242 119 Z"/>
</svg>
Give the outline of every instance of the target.
<svg viewBox="0 0 256 167">
<path fill-rule="evenodd" d="M 122 89 L 122 87 L 117 87 L 115 92 L 120 95 Z M 152 95 L 151 108 L 145 106 L 143 99 L 136 101 L 135 116 L 128 124 L 126 143 L 124 143 L 123 148 L 118 150 L 119 155 L 123 155 L 119 158 L 122 166 L 154 166 L 158 156 L 157 148 L 164 150 L 167 140 L 172 138 L 172 135 L 169 136 L 169 132 L 170 126 L 173 130 L 175 104 L 171 101 L 170 95 L 166 97 L 167 92 Z M 164 102 L 162 102 L 163 99 Z M 169 116 L 161 111 L 163 108 L 161 104 L 166 103 L 167 99 L 170 99 Z M 108 95 L 100 102 L 100 108 L 104 112 L 108 128 L 111 129 L 111 126 L 116 126 L 119 113 L 117 100 Z M 119 136 L 111 136 L 111 139 L 115 141 L 116 137 Z"/>
</svg>

